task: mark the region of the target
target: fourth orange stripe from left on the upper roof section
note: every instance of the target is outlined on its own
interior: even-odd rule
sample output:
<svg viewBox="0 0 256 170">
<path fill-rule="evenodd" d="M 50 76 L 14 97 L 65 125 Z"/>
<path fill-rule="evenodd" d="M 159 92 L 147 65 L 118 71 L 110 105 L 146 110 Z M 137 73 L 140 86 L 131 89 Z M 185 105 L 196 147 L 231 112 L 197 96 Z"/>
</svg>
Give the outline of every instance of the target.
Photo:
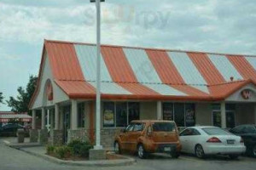
<svg viewBox="0 0 256 170">
<path fill-rule="evenodd" d="M 212 64 L 207 54 L 187 53 L 195 67 L 200 71 L 207 84 L 218 84 L 226 82 L 217 68 Z"/>
</svg>

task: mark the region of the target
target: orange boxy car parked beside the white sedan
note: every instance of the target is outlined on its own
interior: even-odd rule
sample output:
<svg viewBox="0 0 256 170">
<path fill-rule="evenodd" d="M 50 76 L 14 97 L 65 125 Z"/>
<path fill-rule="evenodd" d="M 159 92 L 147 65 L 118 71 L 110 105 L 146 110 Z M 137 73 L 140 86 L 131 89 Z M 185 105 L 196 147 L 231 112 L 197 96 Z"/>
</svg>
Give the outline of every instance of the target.
<svg viewBox="0 0 256 170">
<path fill-rule="evenodd" d="M 150 153 L 169 153 L 177 158 L 181 144 L 175 122 L 171 121 L 132 121 L 114 140 L 114 150 L 137 153 L 145 158 Z"/>
</svg>

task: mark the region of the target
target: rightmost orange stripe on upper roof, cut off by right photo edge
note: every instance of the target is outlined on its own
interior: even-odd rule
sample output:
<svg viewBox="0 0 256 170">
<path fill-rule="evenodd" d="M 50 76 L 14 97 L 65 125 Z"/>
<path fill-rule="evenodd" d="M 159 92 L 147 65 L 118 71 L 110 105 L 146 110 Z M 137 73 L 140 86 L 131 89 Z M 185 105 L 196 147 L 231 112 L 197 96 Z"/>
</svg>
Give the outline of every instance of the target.
<svg viewBox="0 0 256 170">
<path fill-rule="evenodd" d="M 236 67 L 236 70 L 241 74 L 244 79 L 252 79 L 256 81 L 256 71 L 253 66 L 241 55 L 227 55 L 230 62 Z"/>
</svg>

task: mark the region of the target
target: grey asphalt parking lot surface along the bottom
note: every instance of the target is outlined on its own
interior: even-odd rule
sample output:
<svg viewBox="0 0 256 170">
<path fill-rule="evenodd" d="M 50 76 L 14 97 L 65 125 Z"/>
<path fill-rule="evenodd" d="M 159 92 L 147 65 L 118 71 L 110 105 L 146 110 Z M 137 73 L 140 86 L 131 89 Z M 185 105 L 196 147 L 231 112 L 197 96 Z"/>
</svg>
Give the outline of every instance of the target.
<svg viewBox="0 0 256 170">
<path fill-rule="evenodd" d="M 178 159 L 172 159 L 166 155 L 152 155 L 146 160 L 137 159 L 137 163 L 131 166 L 125 167 L 70 167 L 65 165 L 55 164 L 49 161 L 45 161 L 36 156 L 31 156 L 23 151 L 9 148 L 3 144 L 4 139 L 0 139 L 0 169 L 2 170 L 27 170 L 27 169 L 113 169 L 119 170 L 170 170 L 170 169 L 212 169 L 212 170 L 241 170 L 241 169 L 255 169 L 256 159 L 241 156 L 238 160 L 230 160 L 228 157 L 215 156 L 207 158 L 206 160 L 200 160 L 195 156 L 182 155 Z"/>
</svg>

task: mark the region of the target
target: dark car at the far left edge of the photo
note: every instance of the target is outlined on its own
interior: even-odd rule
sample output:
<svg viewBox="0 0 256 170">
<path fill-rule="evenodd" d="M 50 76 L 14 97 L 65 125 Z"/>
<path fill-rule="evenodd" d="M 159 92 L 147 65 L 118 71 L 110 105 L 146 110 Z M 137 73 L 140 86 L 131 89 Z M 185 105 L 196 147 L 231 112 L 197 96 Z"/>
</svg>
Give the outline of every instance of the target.
<svg viewBox="0 0 256 170">
<path fill-rule="evenodd" d="M 6 124 L 3 127 L 0 127 L 0 136 L 16 136 L 19 128 L 26 130 L 23 126 L 17 123 Z"/>
</svg>

